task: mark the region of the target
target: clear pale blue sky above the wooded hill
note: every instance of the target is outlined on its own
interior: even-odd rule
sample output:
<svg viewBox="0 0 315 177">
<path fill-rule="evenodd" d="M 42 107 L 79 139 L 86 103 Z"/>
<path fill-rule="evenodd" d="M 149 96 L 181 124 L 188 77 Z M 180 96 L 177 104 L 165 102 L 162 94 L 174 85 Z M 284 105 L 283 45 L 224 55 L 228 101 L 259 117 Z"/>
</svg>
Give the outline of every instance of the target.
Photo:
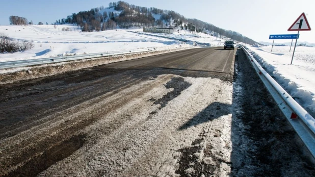
<svg viewBox="0 0 315 177">
<path fill-rule="evenodd" d="M 55 22 L 95 7 L 108 7 L 104 0 L 0 0 L 0 24 L 9 24 L 9 16 L 17 15 L 38 23 Z M 187 18 L 196 18 L 217 27 L 243 34 L 255 41 L 269 41 L 270 34 L 295 34 L 287 29 L 305 12 L 312 31 L 300 32 L 299 41 L 315 43 L 315 0 L 126 0 L 129 4 L 173 10 Z M 277 42 L 287 42 L 278 40 Z"/>
</svg>

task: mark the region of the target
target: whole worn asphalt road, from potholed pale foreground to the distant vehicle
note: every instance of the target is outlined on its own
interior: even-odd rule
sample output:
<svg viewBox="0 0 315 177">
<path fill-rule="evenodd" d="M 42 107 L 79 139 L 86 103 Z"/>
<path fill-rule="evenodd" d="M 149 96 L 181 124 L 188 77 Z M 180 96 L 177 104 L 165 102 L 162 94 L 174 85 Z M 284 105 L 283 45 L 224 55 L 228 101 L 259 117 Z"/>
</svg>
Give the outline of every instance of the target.
<svg viewBox="0 0 315 177">
<path fill-rule="evenodd" d="M 0 176 L 227 175 L 234 52 L 196 48 L 1 85 Z"/>
</svg>

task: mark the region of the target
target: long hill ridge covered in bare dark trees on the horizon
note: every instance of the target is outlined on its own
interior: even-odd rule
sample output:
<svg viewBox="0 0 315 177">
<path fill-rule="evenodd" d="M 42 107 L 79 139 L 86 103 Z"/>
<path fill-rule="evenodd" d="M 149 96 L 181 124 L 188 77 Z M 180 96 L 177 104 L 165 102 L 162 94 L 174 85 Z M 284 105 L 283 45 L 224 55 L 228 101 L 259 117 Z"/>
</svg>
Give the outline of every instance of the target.
<svg viewBox="0 0 315 177">
<path fill-rule="evenodd" d="M 160 18 L 155 19 L 156 17 Z M 132 27 L 181 28 L 182 30 L 212 33 L 219 38 L 225 36 L 251 45 L 257 43 L 240 33 L 224 30 L 198 19 L 186 18 L 174 11 L 152 7 L 139 7 L 129 5 L 123 1 L 110 3 L 109 8 L 104 8 L 102 6 L 89 11 L 72 13 L 72 15 L 68 15 L 67 18 L 56 20 L 55 22 L 55 24 L 64 23 L 77 24 L 82 28 L 82 31 L 89 32 L 115 29 L 117 26 L 122 29 Z"/>
</svg>

